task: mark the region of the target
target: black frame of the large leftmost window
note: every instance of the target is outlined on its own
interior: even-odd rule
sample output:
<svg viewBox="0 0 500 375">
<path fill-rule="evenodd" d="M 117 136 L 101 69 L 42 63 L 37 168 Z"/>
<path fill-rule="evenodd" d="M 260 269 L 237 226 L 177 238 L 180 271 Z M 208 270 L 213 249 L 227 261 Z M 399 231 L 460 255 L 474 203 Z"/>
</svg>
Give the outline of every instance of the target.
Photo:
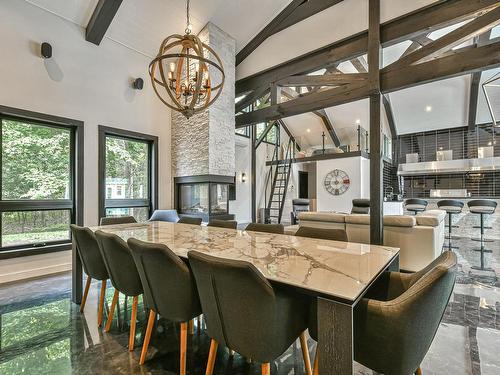
<svg viewBox="0 0 500 375">
<path fill-rule="evenodd" d="M 1 199 L 0 173 L 0 238 L 2 212 L 17 211 L 54 211 L 68 210 L 72 224 L 83 225 L 83 178 L 84 178 L 84 123 L 83 121 L 66 117 L 52 116 L 45 113 L 0 105 L 0 168 L 2 165 L 2 132 L 4 119 L 27 122 L 33 125 L 62 128 L 70 131 L 70 199 Z M 68 228 L 68 232 L 70 232 Z M 0 259 L 16 258 L 28 255 L 46 254 L 57 251 L 67 251 L 72 248 L 71 232 L 67 240 L 45 241 L 14 246 L 1 246 Z"/>
</svg>

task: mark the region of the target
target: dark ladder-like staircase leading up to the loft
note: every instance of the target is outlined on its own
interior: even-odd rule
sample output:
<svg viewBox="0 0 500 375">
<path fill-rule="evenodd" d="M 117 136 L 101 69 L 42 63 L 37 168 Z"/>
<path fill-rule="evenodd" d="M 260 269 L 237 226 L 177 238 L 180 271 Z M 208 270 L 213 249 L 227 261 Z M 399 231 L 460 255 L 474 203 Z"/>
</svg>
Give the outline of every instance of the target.
<svg viewBox="0 0 500 375">
<path fill-rule="evenodd" d="M 267 202 L 267 209 L 269 210 L 271 223 L 281 223 L 281 218 L 283 216 L 283 207 L 285 205 L 285 199 L 286 199 L 286 192 L 288 190 L 288 182 L 290 181 L 292 159 L 294 157 L 294 149 L 295 149 L 295 140 L 290 139 L 288 141 L 285 153 L 285 159 L 278 160 L 279 148 L 278 147 L 275 148 L 273 161 L 275 161 L 276 158 L 278 164 L 275 167 L 271 165 L 268 174 L 268 180 L 271 175 L 274 175 L 273 182 L 271 185 L 271 191 L 269 194 L 269 200 Z"/>
</svg>

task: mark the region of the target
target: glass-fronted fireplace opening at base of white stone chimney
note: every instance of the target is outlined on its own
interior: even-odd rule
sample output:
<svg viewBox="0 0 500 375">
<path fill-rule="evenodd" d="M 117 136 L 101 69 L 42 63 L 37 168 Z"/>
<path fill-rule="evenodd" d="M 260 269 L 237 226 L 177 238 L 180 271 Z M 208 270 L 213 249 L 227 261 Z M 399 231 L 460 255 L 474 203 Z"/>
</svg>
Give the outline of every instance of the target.
<svg viewBox="0 0 500 375">
<path fill-rule="evenodd" d="M 229 213 L 229 185 L 234 177 L 190 176 L 176 177 L 176 208 L 180 216 L 232 220 Z"/>
</svg>

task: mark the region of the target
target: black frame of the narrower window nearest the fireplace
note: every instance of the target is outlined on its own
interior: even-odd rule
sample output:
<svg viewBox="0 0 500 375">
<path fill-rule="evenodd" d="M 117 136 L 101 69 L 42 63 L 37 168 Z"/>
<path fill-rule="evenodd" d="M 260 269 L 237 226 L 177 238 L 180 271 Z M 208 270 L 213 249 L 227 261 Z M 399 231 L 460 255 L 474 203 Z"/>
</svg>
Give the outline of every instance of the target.
<svg viewBox="0 0 500 375">
<path fill-rule="evenodd" d="M 148 145 L 149 168 L 149 198 L 148 199 L 106 199 L 106 138 L 120 138 L 130 141 L 144 142 Z M 98 141 L 98 189 L 99 189 L 99 217 L 106 216 L 108 208 L 142 208 L 149 209 L 148 217 L 158 207 L 158 137 L 130 130 L 112 128 L 99 125 Z"/>
</svg>

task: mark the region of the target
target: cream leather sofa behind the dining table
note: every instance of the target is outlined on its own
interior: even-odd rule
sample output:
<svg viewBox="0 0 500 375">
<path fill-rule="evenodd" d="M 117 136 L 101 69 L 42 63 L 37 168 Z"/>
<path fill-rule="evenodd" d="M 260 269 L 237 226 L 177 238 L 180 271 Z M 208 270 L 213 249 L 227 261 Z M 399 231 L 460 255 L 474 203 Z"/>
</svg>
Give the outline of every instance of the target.
<svg viewBox="0 0 500 375">
<path fill-rule="evenodd" d="M 400 249 L 399 264 L 418 271 L 442 252 L 446 212 L 428 210 L 417 216 L 384 216 L 384 245 Z M 370 243 L 370 215 L 336 212 L 300 212 L 299 226 L 344 229 L 349 242 Z"/>
</svg>

